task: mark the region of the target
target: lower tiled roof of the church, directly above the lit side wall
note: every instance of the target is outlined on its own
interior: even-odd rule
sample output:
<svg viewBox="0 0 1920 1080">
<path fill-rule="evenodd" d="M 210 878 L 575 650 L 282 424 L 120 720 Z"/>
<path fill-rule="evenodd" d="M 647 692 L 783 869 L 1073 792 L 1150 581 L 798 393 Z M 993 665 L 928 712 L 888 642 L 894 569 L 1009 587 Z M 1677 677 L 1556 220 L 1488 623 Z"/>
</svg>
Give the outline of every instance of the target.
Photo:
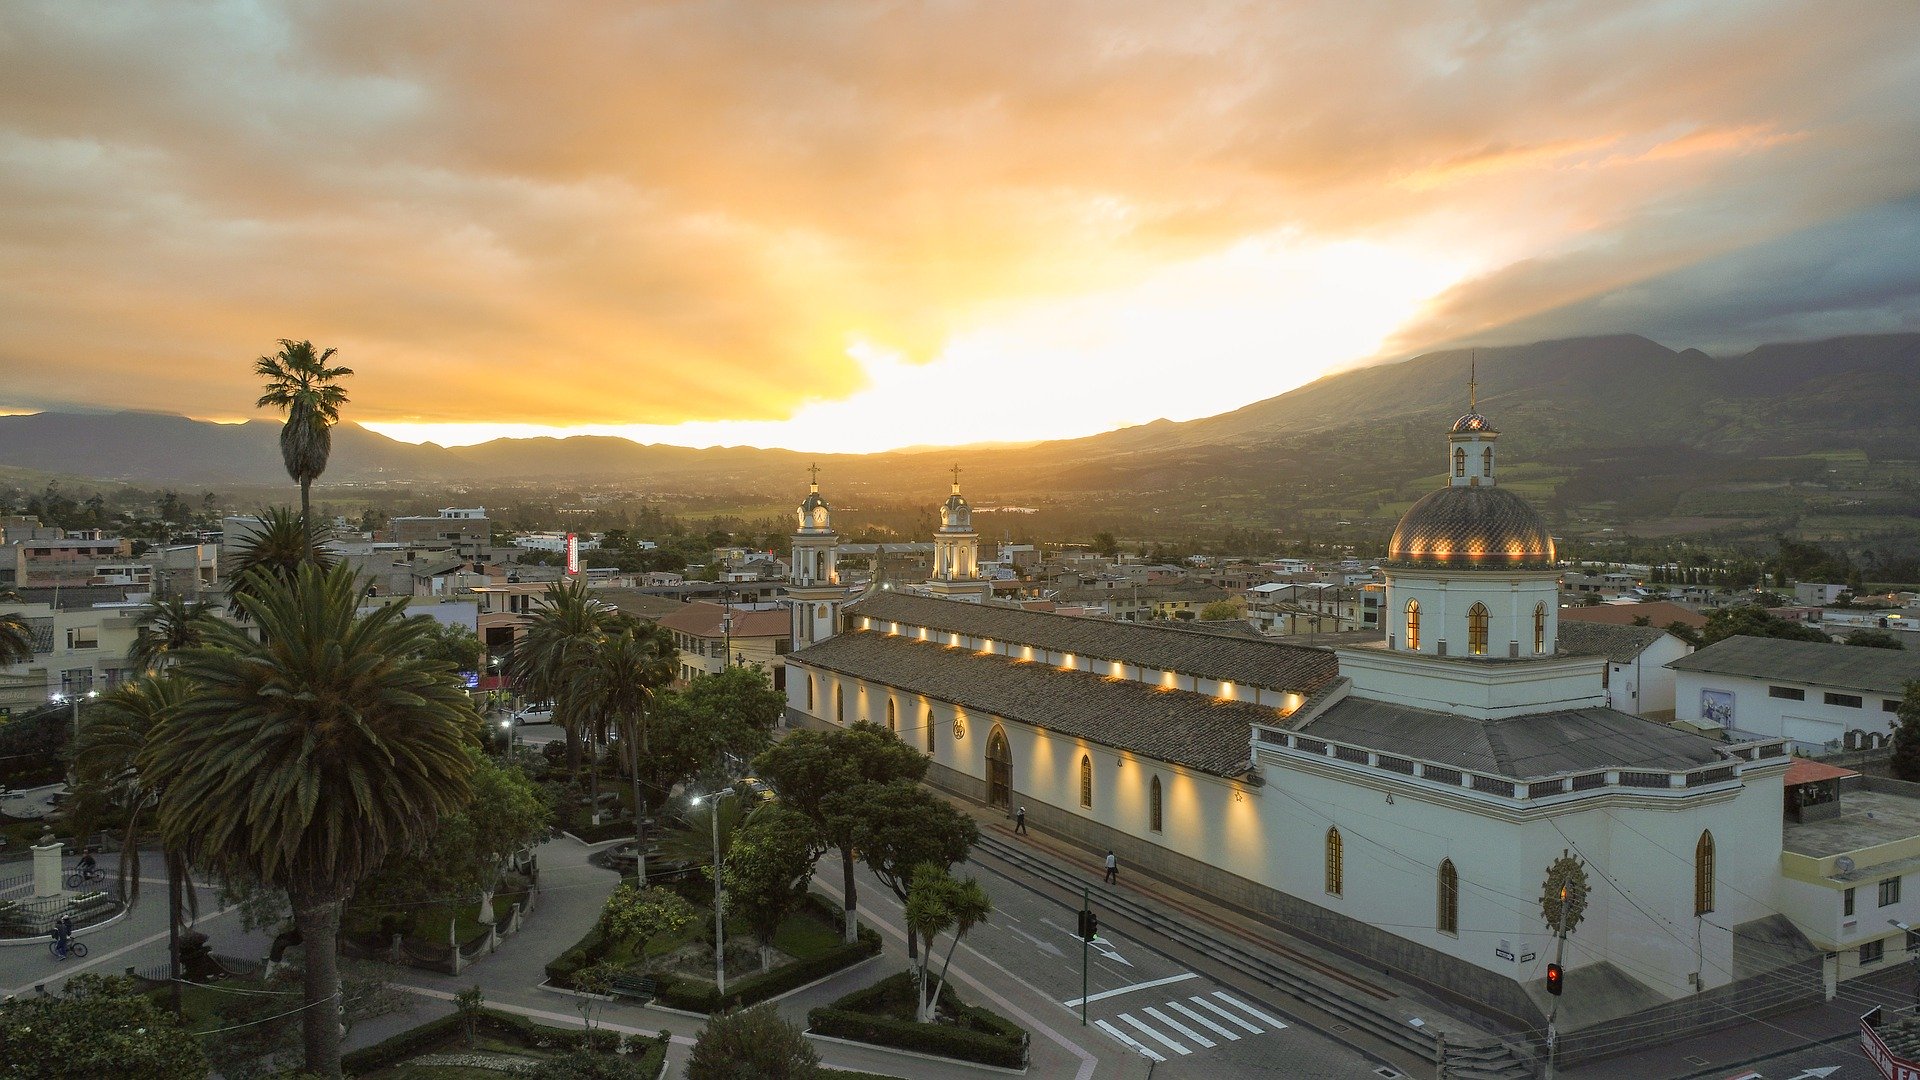
<svg viewBox="0 0 1920 1080">
<path fill-rule="evenodd" d="M 879 682 L 1215 776 L 1244 773 L 1252 724 L 1279 719 L 1265 705 L 1156 690 L 876 630 L 837 634 L 789 655 L 787 663 Z M 979 734 L 985 738 L 985 732 Z"/>
</svg>

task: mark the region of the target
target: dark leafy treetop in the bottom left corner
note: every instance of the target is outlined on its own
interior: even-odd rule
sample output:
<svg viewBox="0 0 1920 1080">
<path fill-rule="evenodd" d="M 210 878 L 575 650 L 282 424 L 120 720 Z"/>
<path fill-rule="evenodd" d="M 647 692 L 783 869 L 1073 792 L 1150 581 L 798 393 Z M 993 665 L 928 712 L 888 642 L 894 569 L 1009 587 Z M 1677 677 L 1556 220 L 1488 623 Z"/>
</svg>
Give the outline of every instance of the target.
<svg viewBox="0 0 1920 1080">
<path fill-rule="evenodd" d="M 8 1076 L 138 1076 L 202 1080 L 200 1042 L 131 978 L 77 974 L 63 994 L 0 1005 L 0 1061 Z"/>
</svg>

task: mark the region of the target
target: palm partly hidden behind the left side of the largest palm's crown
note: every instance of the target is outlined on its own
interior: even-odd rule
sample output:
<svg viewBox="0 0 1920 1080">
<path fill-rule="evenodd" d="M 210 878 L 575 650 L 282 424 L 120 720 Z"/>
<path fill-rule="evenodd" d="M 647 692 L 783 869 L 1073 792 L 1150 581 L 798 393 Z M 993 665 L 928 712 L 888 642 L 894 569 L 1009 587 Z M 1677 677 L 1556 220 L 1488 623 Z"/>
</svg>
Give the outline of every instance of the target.
<svg viewBox="0 0 1920 1080">
<path fill-rule="evenodd" d="M 161 719 L 175 713 L 190 696 L 192 684 L 173 673 L 123 682 L 94 705 L 92 723 L 73 749 L 73 769 L 79 778 L 75 813 L 113 807 L 127 815 L 119 857 L 119 892 L 127 903 L 140 899 L 140 811 L 159 794 L 136 763 Z M 90 834 L 92 826 L 84 824 L 79 832 Z M 200 917 L 200 897 L 188 876 L 188 851 L 161 847 L 161 855 L 167 863 L 167 957 L 173 978 L 179 980 L 180 930 L 186 919 Z M 179 982 L 173 990 L 179 1001 Z"/>
</svg>

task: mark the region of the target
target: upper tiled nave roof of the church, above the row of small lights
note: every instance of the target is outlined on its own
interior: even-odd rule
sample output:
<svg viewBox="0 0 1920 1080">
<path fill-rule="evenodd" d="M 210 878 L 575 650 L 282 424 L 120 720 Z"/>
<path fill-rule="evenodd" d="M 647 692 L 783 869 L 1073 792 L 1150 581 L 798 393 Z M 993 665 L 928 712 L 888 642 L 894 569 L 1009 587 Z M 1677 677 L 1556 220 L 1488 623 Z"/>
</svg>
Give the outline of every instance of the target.
<svg viewBox="0 0 1920 1080">
<path fill-rule="evenodd" d="M 1158 671 L 1311 694 L 1338 675 L 1327 650 L 1267 640 L 1198 634 L 1169 625 L 1075 619 L 1050 611 L 1023 611 L 989 603 L 956 603 L 899 592 L 877 592 L 847 607 L 852 619 L 872 619 L 876 630 L 891 625 L 925 626 L 972 638 L 989 638 L 1077 657 L 1125 661 Z"/>
</svg>

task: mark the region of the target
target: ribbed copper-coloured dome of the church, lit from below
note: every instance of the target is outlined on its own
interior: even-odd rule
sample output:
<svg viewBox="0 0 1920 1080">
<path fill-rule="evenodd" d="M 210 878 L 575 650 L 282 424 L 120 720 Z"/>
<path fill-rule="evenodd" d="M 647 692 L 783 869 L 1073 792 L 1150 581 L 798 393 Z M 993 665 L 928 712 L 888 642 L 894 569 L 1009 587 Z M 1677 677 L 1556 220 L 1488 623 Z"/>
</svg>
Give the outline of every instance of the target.
<svg viewBox="0 0 1920 1080">
<path fill-rule="evenodd" d="M 1467 419 L 1484 417 L 1461 417 Z M 1548 523 L 1521 496 L 1496 486 L 1440 488 L 1394 527 L 1386 559 L 1405 567 L 1523 569 L 1553 565 Z"/>
</svg>

